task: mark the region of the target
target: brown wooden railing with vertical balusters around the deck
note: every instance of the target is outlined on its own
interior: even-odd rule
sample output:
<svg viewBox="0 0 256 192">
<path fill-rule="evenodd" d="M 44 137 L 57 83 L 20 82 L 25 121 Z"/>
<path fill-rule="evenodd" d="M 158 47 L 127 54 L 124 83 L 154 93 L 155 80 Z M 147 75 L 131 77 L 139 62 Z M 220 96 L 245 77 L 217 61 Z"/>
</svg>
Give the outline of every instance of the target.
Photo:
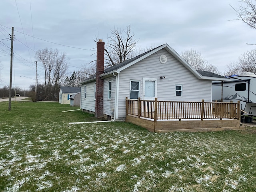
<svg viewBox="0 0 256 192">
<path fill-rule="evenodd" d="M 216 119 L 240 120 L 239 103 L 134 100 L 126 98 L 126 114 L 156 120 Z"/>
</svg>

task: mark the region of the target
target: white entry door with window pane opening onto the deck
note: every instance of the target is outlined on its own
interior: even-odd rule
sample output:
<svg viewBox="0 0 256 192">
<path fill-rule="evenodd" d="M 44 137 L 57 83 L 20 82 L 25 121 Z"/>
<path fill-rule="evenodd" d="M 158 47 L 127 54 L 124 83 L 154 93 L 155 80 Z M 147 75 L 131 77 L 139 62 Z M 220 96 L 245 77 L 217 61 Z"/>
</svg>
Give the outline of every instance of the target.
<svg viewBox="0 0 256 192">
<path fill-rule="evenodd" d="M 143 99 L 154 100 L 156 98 L 156 79 L 144 79 L 143 82 Z"/>
</svg>

